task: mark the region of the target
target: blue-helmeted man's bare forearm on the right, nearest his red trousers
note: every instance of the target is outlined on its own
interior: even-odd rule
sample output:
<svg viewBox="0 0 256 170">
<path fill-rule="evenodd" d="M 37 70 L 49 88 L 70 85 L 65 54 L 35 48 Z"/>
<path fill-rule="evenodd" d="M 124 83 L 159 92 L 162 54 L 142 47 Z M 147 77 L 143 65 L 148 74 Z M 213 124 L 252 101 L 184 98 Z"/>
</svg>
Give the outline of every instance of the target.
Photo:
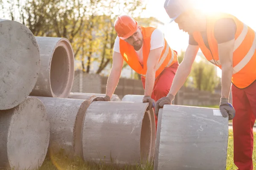
<svg viewBox="0 0 256 170">
<path fill-rule="evenodd" d="M 233 68 L 232 66 L 227 66 L 221 69 L 221 98 L 229 98 Z"/>
</svg>

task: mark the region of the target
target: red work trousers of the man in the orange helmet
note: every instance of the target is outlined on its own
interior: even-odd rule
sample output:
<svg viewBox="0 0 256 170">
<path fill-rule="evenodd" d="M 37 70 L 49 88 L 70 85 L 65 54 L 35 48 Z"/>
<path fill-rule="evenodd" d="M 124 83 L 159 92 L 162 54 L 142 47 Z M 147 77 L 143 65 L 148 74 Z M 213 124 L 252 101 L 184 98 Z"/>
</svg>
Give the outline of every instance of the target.
<svg viewBox="0 0 256 170">
<path fill-rule="evenodd" d="M 154 99 L 156 102 L 162 97 L 166 97 L 172 86 L 173 78 L 177 72 L 179 66 L 178 62 L 175 62 L 169 68 L 166 68 L 159 77 L 156 79 L 154 84 L 153 92 L 151 94 L 151 99 Z M 143 88 L 145 89 L 145 78 L 141 77 Z M 157 129 L 157 116 L 155 115 L 156 129 Z"/>
</svg>

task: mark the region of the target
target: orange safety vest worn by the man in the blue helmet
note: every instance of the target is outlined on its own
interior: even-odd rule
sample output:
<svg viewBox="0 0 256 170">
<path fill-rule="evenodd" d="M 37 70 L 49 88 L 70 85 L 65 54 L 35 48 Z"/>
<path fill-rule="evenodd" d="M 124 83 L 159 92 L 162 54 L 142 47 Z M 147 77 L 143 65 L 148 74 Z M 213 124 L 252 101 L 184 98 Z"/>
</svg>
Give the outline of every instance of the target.
<svg viewBox="0 0 256 170">
<path fill-rule="evenodd" d="M 221 68 L 218 43 L 214 37 L 214 25 L 221 18 L 232 18 L 236 23 L 232 83 L 237 88 L 247 88 L 256 80 L 256 32 L 252 28 L 231 14 L 218 13 L 207 16 L 207 38 L 212 52 L 204 45 L 200 32 L 194 32 L 193 37 L 207 60 Z"/>
</svg>

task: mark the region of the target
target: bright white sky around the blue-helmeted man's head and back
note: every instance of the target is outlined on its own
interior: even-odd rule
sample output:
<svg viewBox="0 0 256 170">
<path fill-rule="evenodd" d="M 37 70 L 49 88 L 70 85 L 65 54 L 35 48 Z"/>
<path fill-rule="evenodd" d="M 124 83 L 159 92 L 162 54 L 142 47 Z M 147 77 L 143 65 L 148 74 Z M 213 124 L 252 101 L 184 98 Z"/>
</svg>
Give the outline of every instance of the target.
<svg viewBox="0 0 256 170">
<path fill-rule="evenodd" d="M 180 30 L 177 23 L 169 23 L 169 16 L 163 8 L 165 0 L 146 0 L 146 2 L 147 7 L 141 15 L 143 17 L 155 17 L 157 20 L 165 23 L 165 26 L 160 29 L 165 34 L 166 41 L 170 47 L 176 51 L 185 51 L 189 42 L 189 35 Z M 233 14 L 256 31 L 256 0 L 195 0 L 195 3 L 198 8 L 208 12 L 221 11 Z M 219 68 L 217 68 L 217 73 L 221 77 L 221 70 Z"/>
</svg>

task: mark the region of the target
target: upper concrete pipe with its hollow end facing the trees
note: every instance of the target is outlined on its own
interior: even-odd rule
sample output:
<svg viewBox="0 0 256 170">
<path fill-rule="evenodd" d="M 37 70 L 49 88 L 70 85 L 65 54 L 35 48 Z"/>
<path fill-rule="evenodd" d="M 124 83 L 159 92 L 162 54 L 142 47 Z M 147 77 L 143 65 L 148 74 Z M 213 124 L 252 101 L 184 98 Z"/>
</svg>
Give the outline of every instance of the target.
<svg viewBox="0 0 256 170">
<path fill-rule="evenodd" d="M 30 96 L 67 98 L 74 79 L 74 55 L 70 42 L 66 38 L 35 38 L 40 48 L 41 66 Z"/>
</svg>

